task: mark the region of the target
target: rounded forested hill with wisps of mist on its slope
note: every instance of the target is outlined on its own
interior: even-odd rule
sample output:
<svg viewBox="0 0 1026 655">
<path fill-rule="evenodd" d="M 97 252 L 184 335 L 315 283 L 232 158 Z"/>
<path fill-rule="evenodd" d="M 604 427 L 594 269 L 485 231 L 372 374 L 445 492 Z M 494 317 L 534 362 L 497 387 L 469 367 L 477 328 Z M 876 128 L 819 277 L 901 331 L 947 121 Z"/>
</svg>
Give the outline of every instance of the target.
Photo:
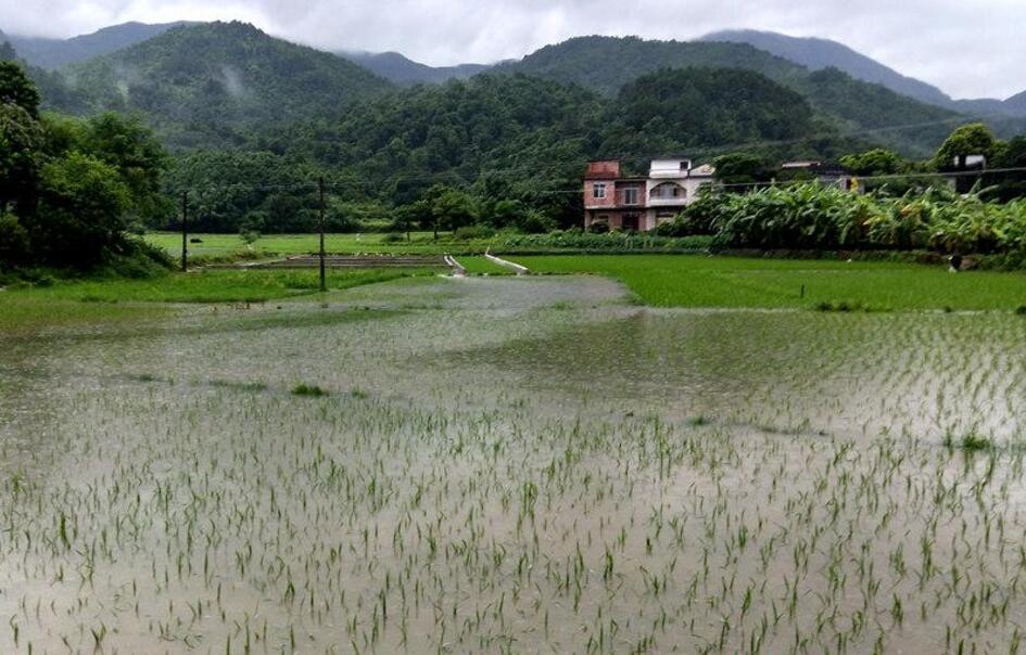
<svg viewBox="0 0 1026 655">
<path fill-rule="evenodd" d="M 140 112 L 176 146 L 230 144 L 255 125 L 339 116 L 392 85 L 244 23 L 176 27 L 65 70 L 83 106 Z"/>
</svg>

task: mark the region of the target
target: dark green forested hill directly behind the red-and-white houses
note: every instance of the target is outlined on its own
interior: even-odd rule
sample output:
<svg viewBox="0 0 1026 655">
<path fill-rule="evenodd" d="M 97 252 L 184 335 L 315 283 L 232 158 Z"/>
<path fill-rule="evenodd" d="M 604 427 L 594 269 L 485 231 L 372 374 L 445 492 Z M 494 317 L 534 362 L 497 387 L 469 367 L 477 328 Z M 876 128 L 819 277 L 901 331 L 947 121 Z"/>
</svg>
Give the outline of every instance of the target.
<svg viewBox="0 0 1026 655">
<path fill-rule="evenodd" d="M 263 130 L 245 151 L 189 154 L 169 185 L 244 189 L 246 179 L 259 179 L 288 187 L 319 170 L 355 203 L 351 213 L 359 203 L 413 203 L 449 184 L 573 224 L 580 219 L 575 190 L 591 157 L 624 156 L 638 172 L 653 155 L 680 152 L 709 162 L 739 143 L 784 141 L 772 147 L 774 158 L 864 149 L 829 138 L 805 141 L 810 133 L 822 137 L 822 129 L 798 93 L 750 70 L 658 70 L 616 98 L 579 85 L 486 74 L 360 102 L 342 119 Z M 197 216 L 218 230 L 249 216 L 264 230 L 274 223 L 264 217 L 307 201 L 308 194 L 287 191 L 217 192 L 197 197 Z"/>
</svg>

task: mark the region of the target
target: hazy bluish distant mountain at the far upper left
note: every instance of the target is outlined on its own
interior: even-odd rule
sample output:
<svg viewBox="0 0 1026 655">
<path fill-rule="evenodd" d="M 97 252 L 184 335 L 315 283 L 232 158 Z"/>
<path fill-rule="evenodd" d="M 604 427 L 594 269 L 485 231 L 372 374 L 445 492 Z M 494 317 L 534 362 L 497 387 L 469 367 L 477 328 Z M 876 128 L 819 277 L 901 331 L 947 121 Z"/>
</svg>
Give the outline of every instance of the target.
<svg viewBox="0 0 1026 655">
<path fill-rule="evenodd" d="M 15 35 L 10 35 L 7 39 L 14 46 L 22 59 L 29 64 L 40 68 L 54 69 L 141 43 L 181 25 L 187 25 L 187 23 L 164 23 L 160 25 L 124 23 L 71 39 L 45 39 Z M 0 36 L 0 40 L 2 39 L 3 37 Z"/>
</svg>

